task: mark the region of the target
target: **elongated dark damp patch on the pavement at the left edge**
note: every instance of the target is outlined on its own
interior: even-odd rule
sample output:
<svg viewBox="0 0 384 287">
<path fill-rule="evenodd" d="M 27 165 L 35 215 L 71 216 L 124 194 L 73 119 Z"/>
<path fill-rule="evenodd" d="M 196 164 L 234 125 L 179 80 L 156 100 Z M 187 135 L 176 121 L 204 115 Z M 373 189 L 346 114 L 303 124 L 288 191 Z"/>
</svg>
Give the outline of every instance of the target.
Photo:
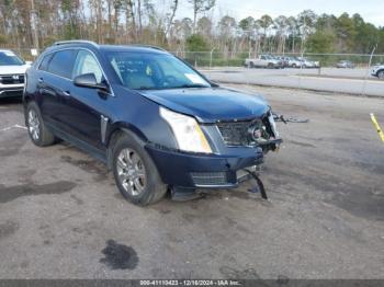
<svg viewBox="0 0 384 287">
<path fill-rule="evenodd" d="M 21 184 L 4 186 L 0 184 L 0 204 L 12 202 L 22 196 L 41 194 L 61 194 L 71 191 L 77 184 L 67 181 L 59 181 L 48 184 Z"/>
</svg>

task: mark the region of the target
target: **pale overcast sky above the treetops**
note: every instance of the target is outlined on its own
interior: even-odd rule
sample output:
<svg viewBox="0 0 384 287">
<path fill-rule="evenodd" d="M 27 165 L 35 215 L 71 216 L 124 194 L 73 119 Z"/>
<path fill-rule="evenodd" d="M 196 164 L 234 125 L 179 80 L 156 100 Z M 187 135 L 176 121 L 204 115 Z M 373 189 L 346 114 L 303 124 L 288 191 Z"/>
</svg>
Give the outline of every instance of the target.
<svg viewBox="0 0 384 287">
<path fill-rule="evenodd" d="M 159 1 L 161 2 L 161 0 Z M 384 26 L 383 0 L 216 0 L 215 10 L 211 13 L 215 18 L 230 15 L 241 20 L 249 15 L 258 19 L 263 14 L 272 18 L 279 15 L 297 15 L 303 10 L 310 9 L 317 14 L 340 15 L 359 13 L 365 20 L 376 26 Z M 180 9 L 176 18 L 193 18 L 188 0 L 181 0 Z"/>
</svg>

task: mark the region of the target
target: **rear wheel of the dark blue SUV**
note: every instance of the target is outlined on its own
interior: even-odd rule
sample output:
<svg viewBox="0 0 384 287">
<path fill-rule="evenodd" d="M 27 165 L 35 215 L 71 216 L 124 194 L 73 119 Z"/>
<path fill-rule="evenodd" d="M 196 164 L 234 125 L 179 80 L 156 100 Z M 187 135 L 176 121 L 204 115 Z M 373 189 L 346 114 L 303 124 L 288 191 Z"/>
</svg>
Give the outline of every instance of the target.
<svg viewBox="0 0 384 287">
<path fill-rule="evenodd" d="M 55 142 L 54 134 L 44 124 L 38 106 L 30 102 L 26 106 L 26 127 L 30 138 L 37 147 L 47 147 Z"/>
</svg>

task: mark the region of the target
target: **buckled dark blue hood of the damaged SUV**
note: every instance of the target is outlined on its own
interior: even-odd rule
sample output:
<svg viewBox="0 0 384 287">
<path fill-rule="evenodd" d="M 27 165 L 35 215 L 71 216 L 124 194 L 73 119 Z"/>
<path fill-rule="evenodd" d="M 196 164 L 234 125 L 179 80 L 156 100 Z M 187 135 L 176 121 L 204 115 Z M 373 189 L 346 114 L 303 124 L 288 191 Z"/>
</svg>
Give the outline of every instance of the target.
<svg viewBox="0 0 384 287">
<path fill-rule="evenodd" d="M 142 95 L 201 123 L 260 117 L 269 105 L 260 95 L 224 88 L 139 91 Z"/>
</svg>

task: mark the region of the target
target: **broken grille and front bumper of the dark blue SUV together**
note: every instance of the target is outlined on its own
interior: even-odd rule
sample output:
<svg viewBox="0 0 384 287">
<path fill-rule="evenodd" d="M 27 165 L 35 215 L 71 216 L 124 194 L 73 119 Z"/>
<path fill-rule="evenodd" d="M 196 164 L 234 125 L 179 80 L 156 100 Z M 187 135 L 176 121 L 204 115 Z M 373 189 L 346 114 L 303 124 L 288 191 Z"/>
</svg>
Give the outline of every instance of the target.
<svg viewBox="0 0 384 287">
<path fill-rule="evenodd" d="M 237 187 L 282 142 L 270 110 L 259 117 L 202 124 L 201 129 L 212 148 L 210 154 L 146 146 L 162 181 L 176 193 Z"/>
</svg>

